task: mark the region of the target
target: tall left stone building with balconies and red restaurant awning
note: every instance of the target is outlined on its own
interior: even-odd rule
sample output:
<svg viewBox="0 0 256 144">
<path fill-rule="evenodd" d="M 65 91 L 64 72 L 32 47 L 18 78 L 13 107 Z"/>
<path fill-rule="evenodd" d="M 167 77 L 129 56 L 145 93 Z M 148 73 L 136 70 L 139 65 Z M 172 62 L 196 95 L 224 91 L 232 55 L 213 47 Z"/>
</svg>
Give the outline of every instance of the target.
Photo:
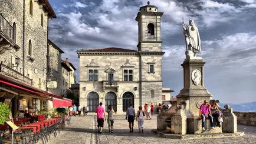
<svg viewBox="0 0 256 144">
<path fill-rule="evenodd" d="M 0 1 L 0 101 L 32 113 L 47 108 L 48 21 L 56 18 L 48 0 Z M 49 101 L 48 101 L 49 100 Z"/>
</svg>

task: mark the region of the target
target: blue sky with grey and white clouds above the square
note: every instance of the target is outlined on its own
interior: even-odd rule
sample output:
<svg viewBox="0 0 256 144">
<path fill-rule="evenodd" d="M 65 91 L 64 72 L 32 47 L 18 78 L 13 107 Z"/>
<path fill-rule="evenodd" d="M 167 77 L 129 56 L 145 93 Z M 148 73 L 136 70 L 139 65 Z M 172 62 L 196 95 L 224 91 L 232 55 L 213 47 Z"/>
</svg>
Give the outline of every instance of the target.
<svg viewBox="0 0 256 144">
<path fill-rule="evenodd" d="M 78 49 L 117 47 L 137 50 L 135 21 L 144 0 L 49 0 L 49 39 L 77 68 Z M 183 88 L 185 40 L 182 17 L 194 19 L 201 37 L 204 86 L 221 103 L 256 101 L 256 0 L 152 0 L 161 19 L 163 87 Z M 77 79 L 78 81 L 78 79 Z"/>
</svg>

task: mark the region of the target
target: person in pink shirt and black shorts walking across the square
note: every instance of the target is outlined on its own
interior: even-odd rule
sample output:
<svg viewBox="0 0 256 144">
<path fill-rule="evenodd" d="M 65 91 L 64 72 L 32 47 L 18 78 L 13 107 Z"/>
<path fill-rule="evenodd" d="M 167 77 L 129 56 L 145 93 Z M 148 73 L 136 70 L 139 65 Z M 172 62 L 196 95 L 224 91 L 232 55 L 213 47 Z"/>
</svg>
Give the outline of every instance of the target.
<svg viewBox="0 0 256 144">
<path fill-rule="evenodd" d="M 98 132 L 102 133 L 104 119 L 106 120 L 105 109 L 102 106 L 102 102 L 100 102 L 100 105 L 96 108 L 95 112 L 97 113 Z"/>
</svg>

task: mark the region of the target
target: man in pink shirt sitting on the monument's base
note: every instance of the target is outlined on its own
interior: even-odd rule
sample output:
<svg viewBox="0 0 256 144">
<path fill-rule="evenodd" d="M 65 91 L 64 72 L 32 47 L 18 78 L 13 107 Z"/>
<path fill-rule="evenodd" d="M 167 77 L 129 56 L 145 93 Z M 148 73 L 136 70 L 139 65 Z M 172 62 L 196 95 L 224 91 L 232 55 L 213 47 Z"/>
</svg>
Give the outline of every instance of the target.
<svg viewBox="0 0 256 144">
<path fill-rule="evenodd" d="M 208 102 L 205 100 L 204 103 L 200 106 L 200 110 L 199 110 L 199 119 L 202 119 L 202 130 L 205 130 L 205 117 L 207 114 L 208 114 L 208 118 L 210 119 L 211 128 L 214 129 L 211 106 L 208 105 Z"/>
</svg>

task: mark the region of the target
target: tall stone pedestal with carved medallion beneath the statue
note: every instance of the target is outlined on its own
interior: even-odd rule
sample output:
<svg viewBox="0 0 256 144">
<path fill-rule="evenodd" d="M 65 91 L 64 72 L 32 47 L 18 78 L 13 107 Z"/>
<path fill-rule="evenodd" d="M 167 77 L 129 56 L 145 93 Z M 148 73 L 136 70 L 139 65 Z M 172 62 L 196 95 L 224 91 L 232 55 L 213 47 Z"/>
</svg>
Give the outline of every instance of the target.
<svg viewBox="0 0 256 144">
<path fill-rule="evenodd" d="M 186 58 L 182 63 L 183 86 L 176 96 L 177 103 L 186 101 L 186 116 L 199 116 L 199 107 L 206 99 L 212 98 L 211 93 L 204 87 L 204 66 L 205 62 L 201 57 Z"/>
</svg>

